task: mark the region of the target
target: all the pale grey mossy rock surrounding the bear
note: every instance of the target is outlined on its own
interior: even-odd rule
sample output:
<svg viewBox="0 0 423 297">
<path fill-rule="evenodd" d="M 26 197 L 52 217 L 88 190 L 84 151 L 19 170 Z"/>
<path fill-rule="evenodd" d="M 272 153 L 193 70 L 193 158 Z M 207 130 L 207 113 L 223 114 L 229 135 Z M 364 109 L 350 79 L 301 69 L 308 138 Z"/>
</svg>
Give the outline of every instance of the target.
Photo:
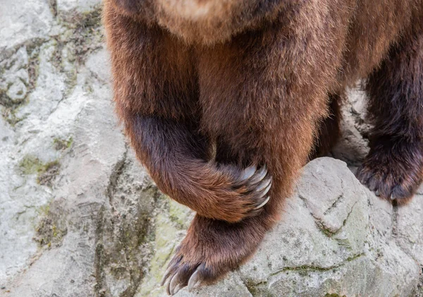
<svg viewBox="0 0 423 297">
<path fill-rule="evenodd" d="M 161 195 L 111 104 L 98 0 L 0 3 L 0 296 L 165 296 L 192 212 Z M 246 265 L 177 296 L 423 296 L 423 188 L 393 207 L 350 169 L 363 96 L 333 157 L 305 166 Z"/>
</svg>

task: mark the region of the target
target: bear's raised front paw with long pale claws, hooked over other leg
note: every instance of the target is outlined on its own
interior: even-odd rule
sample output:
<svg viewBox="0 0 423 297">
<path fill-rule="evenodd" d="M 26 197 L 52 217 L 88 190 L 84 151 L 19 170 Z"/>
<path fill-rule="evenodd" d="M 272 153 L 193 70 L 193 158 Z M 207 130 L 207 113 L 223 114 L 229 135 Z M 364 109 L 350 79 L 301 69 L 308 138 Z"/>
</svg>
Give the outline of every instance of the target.
<svg viewBox="0 0 423 297">
<path fill-rule="evenodd" d="M 212 164 L 204 171 L 188 174 L 171 195 L 202 217 L 236 223 L 259 215 L 269 202 L 272 177 L 267 166 L 247 167 Z M 180 195 L 180 194 L 183 195 Z M 179 196 L 178 196 L 179 195 Z"/>
</svg>

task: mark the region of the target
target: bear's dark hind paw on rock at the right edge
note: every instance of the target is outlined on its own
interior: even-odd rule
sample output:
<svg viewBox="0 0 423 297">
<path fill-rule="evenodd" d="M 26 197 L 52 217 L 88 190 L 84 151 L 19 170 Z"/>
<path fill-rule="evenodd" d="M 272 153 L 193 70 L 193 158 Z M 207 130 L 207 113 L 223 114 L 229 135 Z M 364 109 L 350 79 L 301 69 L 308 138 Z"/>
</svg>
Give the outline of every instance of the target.
<svg viewBox="0 0 423 297">
<path fill-rule="evenodd" d="M 378 145 L 364 159 L 357 178 L 381 198 L 403 204 L 422 181 L 420 150 L 420 145 L 406 142 Z"/>
</svg>

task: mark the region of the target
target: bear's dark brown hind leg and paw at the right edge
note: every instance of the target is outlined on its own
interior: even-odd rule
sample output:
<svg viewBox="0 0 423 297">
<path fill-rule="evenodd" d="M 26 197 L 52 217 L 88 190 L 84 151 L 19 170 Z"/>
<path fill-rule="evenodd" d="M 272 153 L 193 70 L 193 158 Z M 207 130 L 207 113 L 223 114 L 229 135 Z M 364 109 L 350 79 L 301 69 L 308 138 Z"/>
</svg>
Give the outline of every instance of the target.
<svg viewBox="0 0 423 297">
<path fill-rule="evenodd" d="M 423 35 L 391 49 L 367 83 L 374 124 L 370 152 L 357 178 L 376 195 L 399 204 L 409 200 L 423 172 Z"/>
</svg>

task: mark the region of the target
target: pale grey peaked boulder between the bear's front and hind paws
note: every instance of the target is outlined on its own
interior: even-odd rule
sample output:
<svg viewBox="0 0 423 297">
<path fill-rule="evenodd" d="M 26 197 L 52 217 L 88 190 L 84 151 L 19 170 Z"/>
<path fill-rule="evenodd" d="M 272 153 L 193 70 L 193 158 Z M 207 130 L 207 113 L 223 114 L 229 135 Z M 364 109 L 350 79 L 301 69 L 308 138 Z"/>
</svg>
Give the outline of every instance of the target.
<svg viewBox="0 0 423 297">
<path fill-rule="evenodd" d="M 345 163 L 316 159 L 281 223 L 230 281 L 176 296 L 415 296 L 421 269 L 393 238 L 392 212 Z"/>
</svg>

